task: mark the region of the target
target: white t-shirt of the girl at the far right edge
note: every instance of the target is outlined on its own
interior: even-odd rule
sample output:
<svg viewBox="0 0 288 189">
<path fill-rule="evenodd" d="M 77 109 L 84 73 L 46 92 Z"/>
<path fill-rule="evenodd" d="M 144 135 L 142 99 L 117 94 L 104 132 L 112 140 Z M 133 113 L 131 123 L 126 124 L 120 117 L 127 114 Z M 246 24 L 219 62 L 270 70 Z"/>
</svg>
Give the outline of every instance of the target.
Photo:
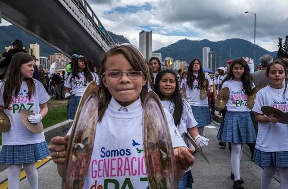
<svg viewBox="0 0 288 189">
<path fill-rule="evenodd" d="M 285 113 L 288 112 L 288 91 L 283 99 L 282 89 L 274 89 L 266 86 L 256 94 L 253 111 L 263 114 L 262 106 L 272 106 Z M 263 152 L 288 151 L 288 126 L 282 123 L 258 123 L 258 136 L 255 148 Z"/>
</svg>

